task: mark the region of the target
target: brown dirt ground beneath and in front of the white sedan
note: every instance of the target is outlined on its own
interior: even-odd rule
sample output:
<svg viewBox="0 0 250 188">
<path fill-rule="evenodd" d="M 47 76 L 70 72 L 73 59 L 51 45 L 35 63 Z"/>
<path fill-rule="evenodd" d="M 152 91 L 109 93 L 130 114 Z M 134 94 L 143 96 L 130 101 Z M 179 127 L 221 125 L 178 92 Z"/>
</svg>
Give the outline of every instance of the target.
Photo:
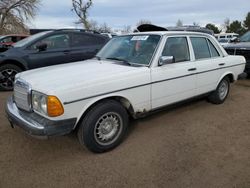
<svg viewBox="0 0 250 188">
<path fill-rule="evenodd" d="M 0 187 L 250 187 L 250 80 L 223 105 L 199 100 L 132 122 L 115 150 L 74 134 L 37 140 L 12 129 L 0 93 Z"/>
</svg>

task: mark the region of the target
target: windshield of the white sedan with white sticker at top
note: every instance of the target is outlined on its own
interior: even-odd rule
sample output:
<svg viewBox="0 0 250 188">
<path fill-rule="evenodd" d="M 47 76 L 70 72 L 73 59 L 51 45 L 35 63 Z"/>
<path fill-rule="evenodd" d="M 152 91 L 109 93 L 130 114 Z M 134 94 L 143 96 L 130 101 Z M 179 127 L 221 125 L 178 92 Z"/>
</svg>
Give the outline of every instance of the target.
<svg viewBox="0 0 250 188">
<path fill-rule="evenodd" d="M 150 64 L 160 35 L 127 35 L 111 39 L 97 54 L 99 59 L 121 61 L 126 64 Z"/>
</svg>

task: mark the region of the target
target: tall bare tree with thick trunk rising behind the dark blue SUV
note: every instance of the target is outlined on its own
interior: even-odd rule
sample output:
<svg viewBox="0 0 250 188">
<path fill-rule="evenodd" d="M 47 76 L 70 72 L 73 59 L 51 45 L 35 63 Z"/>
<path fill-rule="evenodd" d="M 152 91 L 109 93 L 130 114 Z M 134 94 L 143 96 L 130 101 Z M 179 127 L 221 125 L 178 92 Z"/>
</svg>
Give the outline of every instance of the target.
<svg viewBox="0 0 250 188">
<path fill-rule="evenodd" d="M 72 0 L 72 11 L 76 13 L 79 18 L 79 23 L 82 23 L 85 29 L 90 29 L 90 24 L 88 22 L 88 10 L 92 5 L 92 0 Z"/>
</svg>

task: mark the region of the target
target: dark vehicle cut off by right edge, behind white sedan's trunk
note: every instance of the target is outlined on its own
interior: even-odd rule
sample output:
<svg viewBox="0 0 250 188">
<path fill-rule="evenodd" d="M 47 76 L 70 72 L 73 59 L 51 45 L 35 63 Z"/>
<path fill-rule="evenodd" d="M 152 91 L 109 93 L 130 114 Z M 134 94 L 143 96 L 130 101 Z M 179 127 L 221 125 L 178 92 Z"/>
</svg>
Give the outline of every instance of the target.
<svg viewBox="0 0 250 188">
<path fill-rule="evenodd" d="M 230 55 L 242 55 L 246 58 L 245 72 L 250 75 L 250 31 L 240 38 L 235 38 L 231 43 L 224 46 Z"/>
</svg>

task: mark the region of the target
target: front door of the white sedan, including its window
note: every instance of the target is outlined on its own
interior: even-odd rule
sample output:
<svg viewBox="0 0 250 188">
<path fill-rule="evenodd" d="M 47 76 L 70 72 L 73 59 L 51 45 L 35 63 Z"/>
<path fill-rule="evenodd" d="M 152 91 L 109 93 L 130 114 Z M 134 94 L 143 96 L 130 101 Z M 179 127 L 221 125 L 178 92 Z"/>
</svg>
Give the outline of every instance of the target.
<svg viewBox="0 0 250 188">
<path fill-rule="evenodd" d="M 152 109 L 195 95 L 196 64 L 187 37 L 167 38 L 162 56 L 173 56 L 174 62 L 152 68 Z"/>
</svg>

